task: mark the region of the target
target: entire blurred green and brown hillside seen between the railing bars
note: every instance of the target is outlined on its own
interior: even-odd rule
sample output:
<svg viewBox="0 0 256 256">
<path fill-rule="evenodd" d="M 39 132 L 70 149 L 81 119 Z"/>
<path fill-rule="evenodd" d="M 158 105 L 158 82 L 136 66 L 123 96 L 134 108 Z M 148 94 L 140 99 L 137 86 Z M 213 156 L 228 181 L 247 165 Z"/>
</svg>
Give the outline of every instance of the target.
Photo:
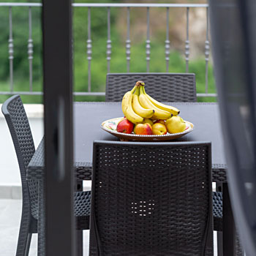
<svg viewBox="0 0 256 256">
<path fill-rule="evenodd" d="M 7 1 L 5 1 L 7 2 Z M 10 2 L 10 1 L 9 1 Z M 15 2 L 40 2 L 37 0 L 16 0 Z M 79 0 L 75 2 L 85 2 Z M 124 3 L 130 1 L 90 1 L 94 3 Z M 143 3 L 159 3 L 159 1 L 136 1 Z M 206 1 L 161 1 L 161 3 L 206 3 Z M 110 72 L 127 72 L 125 41 L 127 36 L 127 12 L 125 8 L 111 8 L 111 41 L 112 54 Z M 130 72 L 146 72 L 146 8 L 131 8 L 131 61 Z M 196 75 L 197 92 L 205 92 L 204 56 L 206 40 L 206 10 L 190 10 L 189 12 L 189 72 Z M 56 13 L 56 18 L 58 14 Z M 166 72 L 165 37 L 166 10 L 152 8 L 150 10 L 151 62 L 150 72 Z M 33 90 L 42 91 L 42 31 L 41 8 L 32 8 L 32 39 L 33 39 Z M 185 72 L 184 58 L 186 40 L 186 9 L 170 9 L 170 67 L 169 72 Z M 9 9 L 0 7 L 0 91 L 10 90 L 9 69 Z M 91 8 L 91 90 L 105 91 L 107 73 L 106 41 L 107 41 L 107 10 Z M 29 91 L 29 11 L 28 7 L 12 8 L 12 34 L 14 43 L 14 90 Z M 88 62 L 86 54 L 87 40 L 87 8 L 75 7 L 73 10 L 73 50 L 74 50 L 74 91 L 87 91 Z M 131 85 L 132 86 L 132 85 Z M 213 67 L 208 67 L 208 92 L 216 92 Z M 0 95 L 4 102 L 9 95 Z M 25 103 L 42 103 L 42 96 L 22 96 Z M 105 97 L 75 97 L 76 101 L 104 101 Z M 216 98 L 203 97 L 198 101 L 212 102 Z"/>
</svg>

